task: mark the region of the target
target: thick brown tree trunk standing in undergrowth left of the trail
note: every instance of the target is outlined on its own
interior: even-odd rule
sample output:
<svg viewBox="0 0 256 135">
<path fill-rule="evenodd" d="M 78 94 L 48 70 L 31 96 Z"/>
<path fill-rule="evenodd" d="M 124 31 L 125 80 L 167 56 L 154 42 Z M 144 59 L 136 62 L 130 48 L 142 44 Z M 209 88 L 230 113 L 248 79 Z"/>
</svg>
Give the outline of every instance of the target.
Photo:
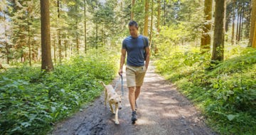
<svg viewBox="0 0 256 135">
<path fill-rule="evenodd" d="M 50 72 L 53 70 L 53 62 L 50 53 L 50 11 L 49 0 L 41 0 L 41 70 Z"/>
</svg>

